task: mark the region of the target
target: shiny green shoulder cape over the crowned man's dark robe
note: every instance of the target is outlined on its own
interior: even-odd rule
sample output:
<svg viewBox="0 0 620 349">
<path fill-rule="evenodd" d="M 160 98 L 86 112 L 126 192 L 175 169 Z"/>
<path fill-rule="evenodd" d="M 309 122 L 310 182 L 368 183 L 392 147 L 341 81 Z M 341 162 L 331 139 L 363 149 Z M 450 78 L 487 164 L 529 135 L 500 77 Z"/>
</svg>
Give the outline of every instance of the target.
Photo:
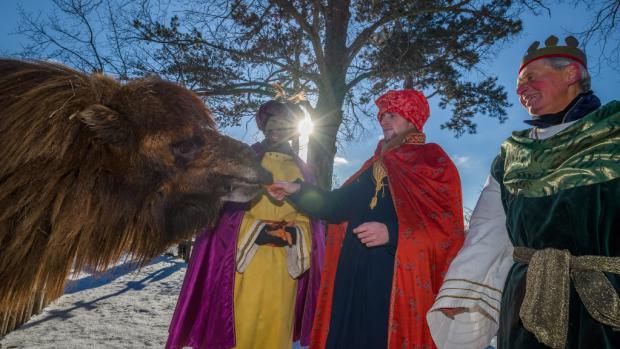
<svg viewBox="0 0 620 349">
<path fill-rule="evenodd" d="M 513 195 L 541 197 L 620 177 L 620 102 L 610 102 L 547 139 L 517 131 L 491 174 Z M 604 170 L 603 170 L 604 169 Z"/>
</svg>

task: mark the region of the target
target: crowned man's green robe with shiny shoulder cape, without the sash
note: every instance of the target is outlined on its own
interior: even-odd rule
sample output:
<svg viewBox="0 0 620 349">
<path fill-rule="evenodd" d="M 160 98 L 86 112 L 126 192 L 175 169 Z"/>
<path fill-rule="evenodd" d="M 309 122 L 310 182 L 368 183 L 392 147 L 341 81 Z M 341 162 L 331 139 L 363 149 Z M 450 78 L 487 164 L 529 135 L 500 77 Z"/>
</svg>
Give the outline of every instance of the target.
<svg viewBox="0 0 620 349">
<path fill-rule="evenodd" d="M 620 103 L 602 106 L 548 139 L 528 133 L 505 141 L 492 167 L 513 245 L 620 256 Z M 506 278 L 499 349 L 545 347 L 519 318 L 527 268 L 515 263 Z M 620 290 L 620 276 L 606 276 Z M 572 284 L 569 302 L 567 348 L 620 348 L 620 332 L 594 320 Z"/>
</svg>

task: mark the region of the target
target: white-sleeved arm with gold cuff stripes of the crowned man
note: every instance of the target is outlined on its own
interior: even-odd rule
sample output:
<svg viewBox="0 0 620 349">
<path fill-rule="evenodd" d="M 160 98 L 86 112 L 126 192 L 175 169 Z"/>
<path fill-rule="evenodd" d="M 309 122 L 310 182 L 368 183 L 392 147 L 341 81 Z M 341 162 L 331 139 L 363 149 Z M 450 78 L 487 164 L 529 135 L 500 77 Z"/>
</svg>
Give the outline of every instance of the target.
<svg viewBox="0 0 620 349">
<path fill-rule="evenodd" d="M 513 264 L 512 250 L 500 185 L 489 177 L 472 214 L 465 243 L 427 314 L 440 349 L 484 348 L 495 336 L 503 285 Z"/>
</svg>

